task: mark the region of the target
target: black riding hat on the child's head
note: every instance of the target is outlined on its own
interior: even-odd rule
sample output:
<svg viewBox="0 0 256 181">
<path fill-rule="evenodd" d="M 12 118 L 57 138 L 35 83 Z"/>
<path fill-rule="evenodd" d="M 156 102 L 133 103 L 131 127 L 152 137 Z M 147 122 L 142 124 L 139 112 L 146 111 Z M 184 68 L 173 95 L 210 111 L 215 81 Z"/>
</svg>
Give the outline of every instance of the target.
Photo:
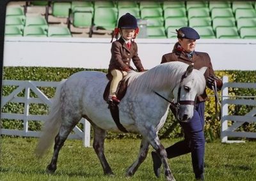
<svg viewBox="0 0 256 181">
<path fill-rule="evenodd" d="M 118 28 L 136 29 L 138 28 L 137 20 L 130 13 L 122 15 L 118 20 Z"/>
</svg>

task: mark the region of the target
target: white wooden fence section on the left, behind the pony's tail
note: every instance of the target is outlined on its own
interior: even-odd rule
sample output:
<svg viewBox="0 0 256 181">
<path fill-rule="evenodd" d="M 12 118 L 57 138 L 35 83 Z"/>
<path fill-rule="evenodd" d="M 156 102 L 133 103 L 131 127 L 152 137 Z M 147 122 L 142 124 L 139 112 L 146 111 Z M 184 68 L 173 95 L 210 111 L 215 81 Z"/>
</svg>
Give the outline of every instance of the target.
<svg viewBox="0 0 256 181">
<path fill-rule="evenodd" d="M 31 104 L 44 104 L 47 106 L 52 105 L 52 99 L 47 98 L 44 92 L 40 91 L 38 87 L 57 87 L 58 82 L 36 82 L 36 81 L 16 81 L 16 80 L 3 80 L 4 86 L 14 86 L 15 90 L 8 96 L 2 96 L 1 110 L 7 103 L 23 103 L 24 113 L 3 113 L 1 111 L 1 119 L 17 119 L 23 120 L 23 129 L 0 129 L 0 134 L 15 135 L 15 136 L 33 136 L 39 137 L 40 131 L 29 131 L 29 121 L 42 121 L 47 119 L 47 115 L 31 115 L 29 114 L 29 106 Z M 24 97 L 18 96 L 22 91 L 25 91 Z M 36 94 L 31 98 L 31 92 Z M 81 119 L 84 130 L 79 127 L 73 129 L 74 133 L 70 134 L 68 138 L 82 139 L 84 147 L 90 146 L 90 123 L 86 119 Z"/>
</svg>

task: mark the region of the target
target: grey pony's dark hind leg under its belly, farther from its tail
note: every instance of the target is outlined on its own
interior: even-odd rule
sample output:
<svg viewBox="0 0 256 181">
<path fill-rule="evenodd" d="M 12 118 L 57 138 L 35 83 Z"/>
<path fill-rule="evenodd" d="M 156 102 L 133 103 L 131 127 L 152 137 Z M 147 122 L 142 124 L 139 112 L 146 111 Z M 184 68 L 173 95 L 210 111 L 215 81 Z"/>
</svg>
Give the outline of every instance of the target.
<svg viewBox="0 0 256 181">
<path fill-rule="evenodd" d="M 106 131 L 104 129 L 100 129 L 97 126 L 93 126 L 93 130 L 94 130 L 93 148 L 97 156 L 99 157 L 104 174 L 114 175 L 104 154 L 104 140 L 106 137 Z"/>
</svg>

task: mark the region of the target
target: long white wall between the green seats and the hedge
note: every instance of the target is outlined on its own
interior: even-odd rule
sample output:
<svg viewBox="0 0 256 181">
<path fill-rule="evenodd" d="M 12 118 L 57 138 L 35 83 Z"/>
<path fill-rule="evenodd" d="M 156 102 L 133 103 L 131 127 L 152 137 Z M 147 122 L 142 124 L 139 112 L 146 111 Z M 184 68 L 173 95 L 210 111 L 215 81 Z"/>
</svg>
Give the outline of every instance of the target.
<svg viewBox="0 0 256 181">
<path fill-rule="evenodd" d="M 111 38 L 6 37 L 4 66 L 108 68 Z M 172 51 L 176 39 L 136 39 L 146 69 Z M 255 70 L 256 40 L 198 40 L 196 51 L 208 52 L 215 70 Z"/>
</svg>

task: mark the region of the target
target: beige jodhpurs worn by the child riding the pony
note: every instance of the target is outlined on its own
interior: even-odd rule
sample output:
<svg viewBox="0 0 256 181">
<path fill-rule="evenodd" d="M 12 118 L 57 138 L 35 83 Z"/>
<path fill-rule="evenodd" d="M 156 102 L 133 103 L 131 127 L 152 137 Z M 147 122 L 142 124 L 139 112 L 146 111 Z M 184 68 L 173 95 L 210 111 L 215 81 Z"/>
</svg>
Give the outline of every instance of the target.
<svg viewBox="0 0 256 181">
<path fill-rule="evenodd" d="M 118 83 L 123 79 L 123 75 L 127 75 L 127 72 L 113 69 L 110 73 L 113 76 L 113 80 L 110 84 L 109 96 L 116 96 L 116 89 L 118 87 Z"/>
</svg>

